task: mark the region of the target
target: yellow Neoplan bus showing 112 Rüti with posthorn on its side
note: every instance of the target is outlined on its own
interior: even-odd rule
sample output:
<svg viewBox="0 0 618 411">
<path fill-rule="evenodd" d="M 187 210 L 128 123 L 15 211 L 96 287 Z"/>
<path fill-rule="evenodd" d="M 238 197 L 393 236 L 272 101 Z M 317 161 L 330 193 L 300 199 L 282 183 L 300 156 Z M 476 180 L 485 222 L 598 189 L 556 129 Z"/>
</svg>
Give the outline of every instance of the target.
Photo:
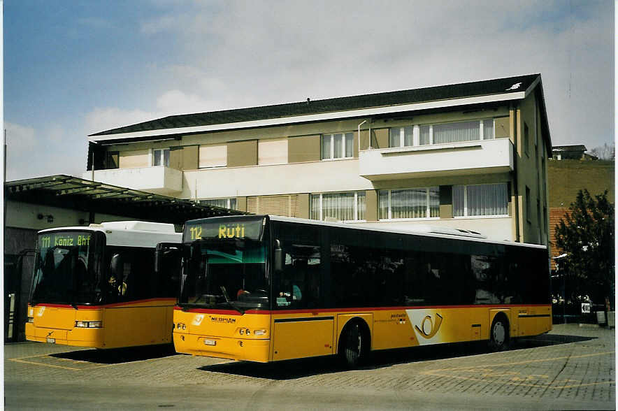
<svg viewBox="0 0 618 411">
<path fill-rule="evenodd" d="M 452 235 L 450 232 L 457 233 Z M 277 216 L 185 224 L 177 352 L 246 361 L 510 339 L 552 329 L 547 247 Z"/>
</svg>

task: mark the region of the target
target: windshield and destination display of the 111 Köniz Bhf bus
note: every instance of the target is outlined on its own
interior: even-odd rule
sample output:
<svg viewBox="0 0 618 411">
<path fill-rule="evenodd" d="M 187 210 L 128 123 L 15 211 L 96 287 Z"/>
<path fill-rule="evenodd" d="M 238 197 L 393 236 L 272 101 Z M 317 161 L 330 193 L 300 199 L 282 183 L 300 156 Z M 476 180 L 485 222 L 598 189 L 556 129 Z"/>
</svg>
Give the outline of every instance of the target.
<svg viewBox="0 0 618 411">
<path fill-rule="evenodd" d="M 95 266 L 101 257 L 103 244 L 95 233 L 88 231 L 58 231 L 38 236 L 32 304 L 94 304 L 101 292 L 99 273 Z"/>
</svg>

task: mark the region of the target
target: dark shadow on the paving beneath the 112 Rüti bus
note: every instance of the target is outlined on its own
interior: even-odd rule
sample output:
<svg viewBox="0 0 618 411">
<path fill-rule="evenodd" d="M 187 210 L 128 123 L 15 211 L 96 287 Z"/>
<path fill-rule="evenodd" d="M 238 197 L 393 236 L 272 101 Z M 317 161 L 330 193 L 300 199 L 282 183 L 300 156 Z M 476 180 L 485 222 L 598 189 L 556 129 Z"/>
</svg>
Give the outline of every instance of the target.
<svg viewBox="0 0 618 411">
<path fill-rule="evenodd" d="M 580 336 L 542 335 L 517 340 L 512 349 L 545 347 L 548 345 L 578 343 L 595 338 Z M 406 349 L 390 349 L 373 352 L 361 370 L 386 368 L 396 364 L 450 359 L 455 357 L 486 354 L 489 351 L 487 343 L 459 343 L 439 346 L 414 347 Z M 318 357 L 280 361 L 277 363 L 250 363 L 245 361 L 220 363 L 198 368 L 213 373 L 243 375 L 245 377 L 267 378 L 270 380 L 295 380 L 319 374 L 339 373 L 347 370 L 336 356 Z"/>
</svg>

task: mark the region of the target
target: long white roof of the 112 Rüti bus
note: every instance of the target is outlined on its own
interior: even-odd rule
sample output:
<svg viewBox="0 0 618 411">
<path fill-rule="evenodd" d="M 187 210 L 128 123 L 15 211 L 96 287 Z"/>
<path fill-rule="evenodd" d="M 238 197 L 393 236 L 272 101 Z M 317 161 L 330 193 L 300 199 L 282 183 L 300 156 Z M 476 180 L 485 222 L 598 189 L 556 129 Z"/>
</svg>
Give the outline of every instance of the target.
<svg viewBox="0 0 618 411">
<path fill-rule="evenodd" d="M 379 231 L 385 233 L 398 233 L 398 234 L 412 234 L 415 236 L 426 236 L 426 237 L 436 237 L 436 238 L 451 238 L 462 241 L 474 241 L 480 243 L 491 243 L 491 244 L 500 244 L 500 245 L 515 245 L 518 247 L 531 247 L 531 248 L 540 248 L 547 249 L 545 245 L 538 244 L 530 244 L 530 243 L 515 243 L 515 241 L 510 240 L 490 240 L 489 238 L 483 236 L 481 233 L 477 233 L 476 231 L 470 230 L 462 230 L 462 229 L 454 229 L 451 227 L 442 227 L 442 226 L 428 226 L 422 225 L 418 226 L 417 229 L 394 229 L 392 227 L 378 228 L 375 226 L 363 226 L 361 224 L 356 223 L 343 223 L 343 222 L 326 222 L 319 221 L 316 219 L 304 219 L 298 217 L 282 217 L 280 215 L 234 215 L 234 216 L 221 216 L 221 217 L 209 217 L 205 219 L 246 219 L 246 218 L 256 218 L 256 217 L 268 217 L 272 221 L 280 221 L 280 222 L 293 222 L 299 224 L 311 224 L 316 226 L 329 226 L 329 227 L 342 227 L 345 229 L 356 229 L 356 230 L 366 230 L 366 231 Z M 192 220 L 192 221 L 201 221 L 204 219 Z"/>
</svg>

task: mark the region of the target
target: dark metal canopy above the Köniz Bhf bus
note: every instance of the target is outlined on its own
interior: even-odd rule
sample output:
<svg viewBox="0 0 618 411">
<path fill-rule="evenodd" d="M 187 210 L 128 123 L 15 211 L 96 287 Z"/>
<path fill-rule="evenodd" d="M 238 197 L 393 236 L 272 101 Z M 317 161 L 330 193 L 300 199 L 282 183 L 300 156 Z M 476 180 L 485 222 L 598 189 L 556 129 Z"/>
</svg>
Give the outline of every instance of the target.
<svg viewBox="0 0 618 411">
<path fill-rule="evenodd" d="M 6 182 L 4 197 L 5 201 L 21 201 L 172 224 L 184 224 L 185 221 L 196 218 L 246 214 L 62 174 Z"/>
</svg>

